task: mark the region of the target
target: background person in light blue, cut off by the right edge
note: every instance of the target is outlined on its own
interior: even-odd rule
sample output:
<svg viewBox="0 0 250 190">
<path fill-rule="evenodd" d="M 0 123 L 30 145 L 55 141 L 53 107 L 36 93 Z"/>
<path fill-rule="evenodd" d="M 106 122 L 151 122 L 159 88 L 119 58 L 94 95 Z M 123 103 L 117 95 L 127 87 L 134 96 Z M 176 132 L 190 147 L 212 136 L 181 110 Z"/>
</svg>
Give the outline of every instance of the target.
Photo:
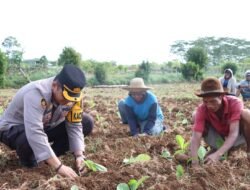
<svg viewBox="0 0 250 190">
<path fill-rule="evenodd" d="M 240 81 L 236 96 L 242 95 L 244 101 L 250 100 L 250 70 L 245 73 L 245 80 Z"/>
</svg>

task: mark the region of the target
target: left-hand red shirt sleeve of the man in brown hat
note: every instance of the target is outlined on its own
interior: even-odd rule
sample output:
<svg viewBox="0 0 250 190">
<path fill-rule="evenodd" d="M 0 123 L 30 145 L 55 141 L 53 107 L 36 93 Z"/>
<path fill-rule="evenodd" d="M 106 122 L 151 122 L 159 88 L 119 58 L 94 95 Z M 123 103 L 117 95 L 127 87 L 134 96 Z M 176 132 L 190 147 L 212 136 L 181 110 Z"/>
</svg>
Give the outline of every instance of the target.
<svg viewBox="0 0 250 190">
<path fill-rule="evenodd" d="M 195 120 L 193 131 L 203 133 L 205 128 L 205 108 L 204 106 L 199 106 L 195 111 Z"/>
</svg>

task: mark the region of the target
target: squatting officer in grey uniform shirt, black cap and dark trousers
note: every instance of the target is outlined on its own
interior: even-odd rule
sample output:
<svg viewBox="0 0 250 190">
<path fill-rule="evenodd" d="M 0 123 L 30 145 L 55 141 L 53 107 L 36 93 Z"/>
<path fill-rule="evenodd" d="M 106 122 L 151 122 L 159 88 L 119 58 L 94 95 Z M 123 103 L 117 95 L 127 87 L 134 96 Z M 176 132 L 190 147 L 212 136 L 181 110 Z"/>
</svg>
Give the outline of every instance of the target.
<svg viewBox="0 0 250 190">
<path fill-rule="evenodd" d="M 65 65 L 56 77 L 31 82 L 17 92 L 0 117 L 0 141 L 16 150 L 21 165 L 45 161 L 62 176 L 77 176 L 58 156 L 70 150 L 81 169 L 84 136 L 93 128 L 93 119 L 81 106 L 85 83 L 79 68 Z"/>
</svg>

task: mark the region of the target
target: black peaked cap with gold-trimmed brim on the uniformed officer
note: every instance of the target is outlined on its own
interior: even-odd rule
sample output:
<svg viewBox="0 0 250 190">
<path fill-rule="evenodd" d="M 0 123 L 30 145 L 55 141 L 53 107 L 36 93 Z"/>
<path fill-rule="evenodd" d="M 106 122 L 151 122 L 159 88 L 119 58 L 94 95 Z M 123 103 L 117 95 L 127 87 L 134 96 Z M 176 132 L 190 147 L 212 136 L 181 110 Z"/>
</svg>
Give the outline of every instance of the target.
<svg viewBox="0 0 250 190">
<path fill-rule="evenodd" d="M 55 79 L 61 83 L 65 99 L 73 102 L 81 100 L 81 90 L 86 85 L 86 78 L 80 68 L 72 64 L 66 64 Z"/>
</svg>

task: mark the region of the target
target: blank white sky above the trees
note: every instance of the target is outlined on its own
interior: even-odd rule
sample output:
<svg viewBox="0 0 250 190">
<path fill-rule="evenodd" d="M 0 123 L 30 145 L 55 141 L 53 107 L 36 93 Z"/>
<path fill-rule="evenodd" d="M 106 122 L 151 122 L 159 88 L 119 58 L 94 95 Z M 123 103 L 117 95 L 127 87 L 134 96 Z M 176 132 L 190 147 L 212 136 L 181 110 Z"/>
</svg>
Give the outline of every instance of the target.
<svg viewBox="0 0 250 190">
<path fill-rule="evenodd" d="M 162 63 L 172 58 L 176 40 L 250 40 L 249 5 L 249 0 L 0 0 L 0 42 L 16 37 L 25 59 L 56 60 L 68 46 L 84 60 Z"/>
</svg>

